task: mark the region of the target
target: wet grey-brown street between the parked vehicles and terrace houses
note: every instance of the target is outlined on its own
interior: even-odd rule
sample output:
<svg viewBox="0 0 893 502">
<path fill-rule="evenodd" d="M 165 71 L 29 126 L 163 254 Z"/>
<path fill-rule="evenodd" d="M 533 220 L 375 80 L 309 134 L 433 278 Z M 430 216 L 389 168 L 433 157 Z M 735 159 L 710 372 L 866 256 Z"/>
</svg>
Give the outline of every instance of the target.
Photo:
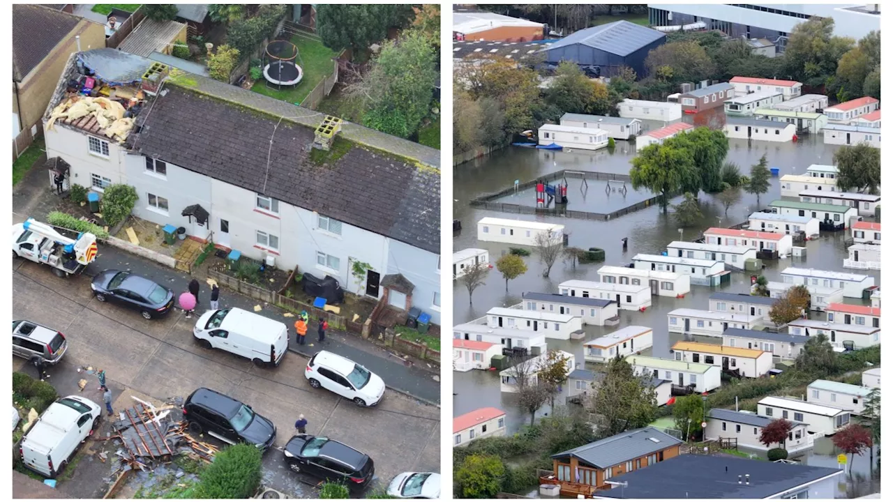
<svg viewBox="0 0 893 502">
<path fill-rule="evenodd" d="M 309 433 L 341 440 L 372 457 L 378 476 L 372 489 L 383 487 L 397 473 L 440 472 L 438 407 L 389 392 L 380 406 L 358 408 L 328 391 L 312 389 L 304 378 L 303 356 L 290 353 L 278 368 L 255 368 L 237 356 L 198 347 L 191 334 L 195 318 L 185 319 L 175 311 L 146 321 L 118 305 L 97 302 L 88 277 L 60 279 L 44 265 L 20 259 L 13 259 L 13 272 L 13 317 L 61 330 L 69 341 L 63 364 L 50 369 L 49 381 L 63 395 L 77 391 L 84 373 L 76 370 L 86 366 L 105 369 L 116 409 L 130 406 L 130 395 L 167 400 L 207 387 L 271 419 L 279 430 L 275 445 L 280 448 L 291 437 L 297 414 L 305 414 Z M 185 279 L 182 286 L 185 289 Z M 95 385 L 91 381 L 85 395 L 101 403 Z M 67 481 L 79 497 L 96 493 L 89 486 L 101 488 L 96 470 L 90 471 L 94 464 L 92 456 L 81 462 Z M 292 497 L 315 497 L 306 481 L 285 468 L 279 451 L 265 454 L 264 467 L 265 486 Z M 82 471 L 93 474 L 79 479 Z"/>
</svg>

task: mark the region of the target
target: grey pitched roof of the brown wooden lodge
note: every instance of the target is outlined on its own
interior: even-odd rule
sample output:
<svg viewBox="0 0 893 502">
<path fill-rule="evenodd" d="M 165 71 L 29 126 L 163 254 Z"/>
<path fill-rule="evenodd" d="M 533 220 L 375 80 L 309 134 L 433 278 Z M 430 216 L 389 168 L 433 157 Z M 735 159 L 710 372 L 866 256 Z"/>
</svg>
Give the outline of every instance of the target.
<svg viewBox="0 0 893 502">
<path fill-rule="evenodd" d="M 651 439 L 657 439 L 657 441 L 655 442 Z M 599 469 L 606 469 L 612 465 L 622 464 L 633 458 L 647 456 L 681 443 L 680 439 L 673 438 L 671 435 L 658 431 L 654 427 L 643 427 L 556 453 L 552 458 L 573 456 L 585 464 Z"/>
</svg>

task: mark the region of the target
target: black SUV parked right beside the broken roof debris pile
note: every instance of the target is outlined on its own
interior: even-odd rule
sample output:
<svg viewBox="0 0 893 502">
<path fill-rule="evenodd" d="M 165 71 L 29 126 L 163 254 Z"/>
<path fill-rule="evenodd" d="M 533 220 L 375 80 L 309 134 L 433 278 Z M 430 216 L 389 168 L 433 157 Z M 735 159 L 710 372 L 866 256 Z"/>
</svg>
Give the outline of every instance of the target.
<svg viewBox="0 0 893 502">
<path fill-rule="evenodd" d="M 248 443 L 266 451 L 276 439 L 276 426 L 251 406 L 211 389 L 197 389 L 183 403 L 183 418 L 193 434 L 206 432 L 234 445 Z"/>
</svg>

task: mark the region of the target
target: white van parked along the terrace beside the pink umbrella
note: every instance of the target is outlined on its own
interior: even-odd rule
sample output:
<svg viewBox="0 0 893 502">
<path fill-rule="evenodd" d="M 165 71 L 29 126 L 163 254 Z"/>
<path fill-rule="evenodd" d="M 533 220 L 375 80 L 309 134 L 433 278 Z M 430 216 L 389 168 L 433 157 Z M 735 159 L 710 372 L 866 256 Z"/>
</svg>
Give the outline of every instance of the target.
<svg viewBox="0 0 893 502">
<path fill-rule="evenodd" d="M 240 308 L 205 312 L 192 330 L 199 345 L 251 359 L 257 366 L 279 366 L 288 350 L 288 328 Z"/>
</svg>

